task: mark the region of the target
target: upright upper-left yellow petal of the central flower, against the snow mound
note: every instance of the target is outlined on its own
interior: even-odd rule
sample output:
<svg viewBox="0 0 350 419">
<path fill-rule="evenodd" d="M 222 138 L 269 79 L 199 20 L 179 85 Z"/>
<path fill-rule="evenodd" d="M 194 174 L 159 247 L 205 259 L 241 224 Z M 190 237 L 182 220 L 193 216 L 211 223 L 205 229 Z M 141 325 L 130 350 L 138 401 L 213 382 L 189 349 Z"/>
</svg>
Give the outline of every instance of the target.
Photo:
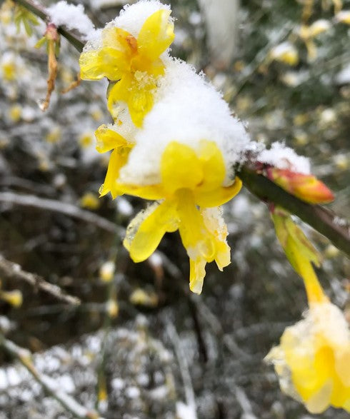
<svg viewBox="0 0 350 419">
<path fill-rule="evenodd" d="M 182 188 L 194 189 L 202 180 L 203 170 L 195 151 L 176 141 L 169 143 L 161 157 L 164 189 L 169 193 Z"/>
</svg>

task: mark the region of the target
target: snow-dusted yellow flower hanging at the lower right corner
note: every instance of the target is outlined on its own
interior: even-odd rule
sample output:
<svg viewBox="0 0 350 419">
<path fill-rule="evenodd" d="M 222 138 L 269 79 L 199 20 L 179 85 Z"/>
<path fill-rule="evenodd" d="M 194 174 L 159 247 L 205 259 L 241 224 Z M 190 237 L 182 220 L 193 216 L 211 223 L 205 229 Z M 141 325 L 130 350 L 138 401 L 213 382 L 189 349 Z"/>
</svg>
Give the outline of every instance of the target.
<svg viewBox="0 0 350 419">
<path fill-rule="evenodd" d="M 350 413 L 349 326 L 339 308 L 319 293 L 315 278 L 306 282 L 309 311 L 304 320 L 284 330 L 266 360 L 274 363 L 284 393 L 310 413 L 322 413 L 330 405 Z"/>
</svg>

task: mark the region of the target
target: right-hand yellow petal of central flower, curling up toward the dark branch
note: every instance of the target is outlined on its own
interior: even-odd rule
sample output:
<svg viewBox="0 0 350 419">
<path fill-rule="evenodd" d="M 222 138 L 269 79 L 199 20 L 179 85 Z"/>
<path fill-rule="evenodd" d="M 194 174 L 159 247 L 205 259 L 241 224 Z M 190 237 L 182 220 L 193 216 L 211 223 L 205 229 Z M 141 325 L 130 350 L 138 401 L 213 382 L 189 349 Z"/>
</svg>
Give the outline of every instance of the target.
<svg viewBox="0 0 350 419">
<path fill-rule="evenodd" d="M 234 184 L 224 188 L 216 188 L 213 191 L 205 191 L 199 186 L 194 190 L 194 196 L 197 205 L 204 208 L 211 208 L 214 206 L 221 206 L 230 201 L 234 196 L 241 191 L 242 181 L 240 178 L 235 178 Z"/>
</svg>

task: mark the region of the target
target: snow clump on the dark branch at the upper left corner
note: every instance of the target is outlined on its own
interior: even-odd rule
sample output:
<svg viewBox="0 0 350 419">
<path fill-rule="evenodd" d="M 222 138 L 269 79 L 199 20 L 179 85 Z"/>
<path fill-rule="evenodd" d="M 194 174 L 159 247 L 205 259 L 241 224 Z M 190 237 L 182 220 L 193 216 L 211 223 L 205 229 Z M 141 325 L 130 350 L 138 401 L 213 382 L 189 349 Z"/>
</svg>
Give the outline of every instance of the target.
<svg viewBox="0 0 350 419">
<path fill-rule="evenodd" d="M 82 4 L 76 6 L 62 0 L 46 9 L 46 13 L 49 14 L 51 23 L 54 25 L 66 26 L 70 31 L 79 31 L 86 41 L 94 37 L 94 24 L 84 13 Z"/>
</svg>

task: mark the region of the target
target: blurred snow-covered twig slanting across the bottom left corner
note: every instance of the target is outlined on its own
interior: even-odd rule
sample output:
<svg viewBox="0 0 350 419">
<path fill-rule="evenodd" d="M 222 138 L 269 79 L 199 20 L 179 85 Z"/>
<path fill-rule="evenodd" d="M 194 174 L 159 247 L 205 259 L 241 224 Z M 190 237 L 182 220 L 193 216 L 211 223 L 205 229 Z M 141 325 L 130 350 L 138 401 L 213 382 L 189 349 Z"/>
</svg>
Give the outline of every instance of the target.
<svg viewBox="0 0 350 419">
<path fill-rule="evenodd" d="M 0 333 L 0 345 L 16 360 L 24 365 L 24 367 L 33 375 L 35 380 L 40 383 L 44 390 L 54 397 L 59 403 L 61 403 L 66 410 L 69 410 L 76 418 L 83 419 L 102 419 L 99 413 L 96 410 L 86 409 L 84 406 L 80 405 L 74 398 L 70 395 L 64 393 L 63 390 L 59 388 L 56 382 L 47 375 L 39 373 L 36 370 L 34 363 L 31 360 L 31 352 L 27 349 L 21 348 L 15 343 L 11 342 L 4 338 L 4 335 Z"/>
</svg>

